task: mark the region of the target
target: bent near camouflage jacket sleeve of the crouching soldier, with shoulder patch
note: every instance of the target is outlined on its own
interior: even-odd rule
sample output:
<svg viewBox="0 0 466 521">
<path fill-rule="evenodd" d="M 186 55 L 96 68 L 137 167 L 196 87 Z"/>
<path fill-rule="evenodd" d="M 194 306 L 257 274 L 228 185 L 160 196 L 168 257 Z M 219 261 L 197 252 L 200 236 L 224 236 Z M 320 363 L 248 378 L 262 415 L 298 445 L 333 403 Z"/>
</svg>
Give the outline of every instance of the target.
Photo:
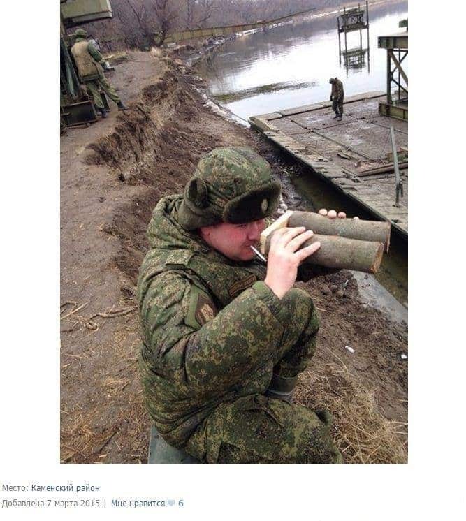
<svg viewBox="0 0 466 521">
<path fill-rule="evenodd" d="M 181 370 L 193 392 L 226 390 L 275 355 L 289 311 L 270 288 L 256 282 L 218 313 L 202 289 L 196 313 L 198 289 L 174 272 L 152 280 L 140 302 L 145 345 L 157 369 Z M 199 321 L 193 320 L 196 314 Z"/>
</svg>

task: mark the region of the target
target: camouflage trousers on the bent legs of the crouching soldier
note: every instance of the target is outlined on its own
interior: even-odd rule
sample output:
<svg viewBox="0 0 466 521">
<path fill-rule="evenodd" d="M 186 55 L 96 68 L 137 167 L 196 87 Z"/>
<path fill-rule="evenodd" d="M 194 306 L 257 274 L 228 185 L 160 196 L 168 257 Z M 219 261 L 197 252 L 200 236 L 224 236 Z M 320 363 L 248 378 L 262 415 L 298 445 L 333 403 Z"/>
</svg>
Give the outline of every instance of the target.
<svg viewBox="0 0 466 521">
<path fill-rule="evenodd" d="M 319 319 L 307 293 L 293 289 L 284 299 L 293 327 L 285 329 L 273 372 L 296 376 L 314 355 Z M 325 411 L 255 393 L 217 406 L 184 450 L 206 463 L 341 463 L 329 431 Z"/>
</svg>

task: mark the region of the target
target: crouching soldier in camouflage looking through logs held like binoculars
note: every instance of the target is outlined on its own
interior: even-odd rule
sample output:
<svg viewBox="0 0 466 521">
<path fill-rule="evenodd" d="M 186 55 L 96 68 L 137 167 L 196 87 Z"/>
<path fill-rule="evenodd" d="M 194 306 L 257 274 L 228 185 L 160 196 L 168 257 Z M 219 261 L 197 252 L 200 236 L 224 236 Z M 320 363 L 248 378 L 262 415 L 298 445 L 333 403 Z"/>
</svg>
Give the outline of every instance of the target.
<svg viewBox="0 0 466 521">
<path fill-rule="evenodd" d="M 319 330 L 310 295 L 291 286 L 319 243 L 299 250 L 312 232 L 279 230 L 267 266 L 250 249 L 279 194 L 251 149 L 214 149 L 147 230 L 145 400 L 163 439 L 201 462 L 342 462 L 328 414 L 291 403 Z"/>
</svg>

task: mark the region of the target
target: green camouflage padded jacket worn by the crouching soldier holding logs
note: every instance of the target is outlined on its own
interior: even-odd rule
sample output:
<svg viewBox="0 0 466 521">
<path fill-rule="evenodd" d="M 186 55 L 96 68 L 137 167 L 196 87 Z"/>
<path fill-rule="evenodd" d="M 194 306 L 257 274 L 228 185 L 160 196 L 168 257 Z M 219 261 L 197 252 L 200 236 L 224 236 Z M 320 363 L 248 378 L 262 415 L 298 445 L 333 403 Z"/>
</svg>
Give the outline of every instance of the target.
<svg viewBox="0 0 466 521">
<path fill-rule="evenodd" d="M 263 284 L 265 266 L 235 263 L 184 230 L 180 202 L 156 205 L 138 279 L 145 401 L 157 430 L 179 447 L 221 402 L 265 392 L 293 327 Z"/>
</svg>

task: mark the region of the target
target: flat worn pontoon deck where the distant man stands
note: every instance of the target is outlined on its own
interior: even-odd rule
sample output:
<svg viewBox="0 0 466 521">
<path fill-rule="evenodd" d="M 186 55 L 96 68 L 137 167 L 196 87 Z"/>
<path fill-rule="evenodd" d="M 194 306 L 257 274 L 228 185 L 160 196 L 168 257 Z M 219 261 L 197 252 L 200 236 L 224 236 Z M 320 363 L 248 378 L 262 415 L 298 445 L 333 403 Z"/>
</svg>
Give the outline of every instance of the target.
<svg viewBox="0 0 466 521">
<path fill-rule="evenodd" d="M 408 123 L 379 115 L 384 92 L 368 92 L 344 101 L 342 121 L 333 119 L 331 101 L 249 118 L 249 122 L 314 173 L 328 180 L 378 219 L 408 234 Z M 395 131 L 404 196 L 395 206 L 395 173 L 390 168 L 390 126 Z M 406 154 L 403 161 L 402 154 Z"/>
</svg>

